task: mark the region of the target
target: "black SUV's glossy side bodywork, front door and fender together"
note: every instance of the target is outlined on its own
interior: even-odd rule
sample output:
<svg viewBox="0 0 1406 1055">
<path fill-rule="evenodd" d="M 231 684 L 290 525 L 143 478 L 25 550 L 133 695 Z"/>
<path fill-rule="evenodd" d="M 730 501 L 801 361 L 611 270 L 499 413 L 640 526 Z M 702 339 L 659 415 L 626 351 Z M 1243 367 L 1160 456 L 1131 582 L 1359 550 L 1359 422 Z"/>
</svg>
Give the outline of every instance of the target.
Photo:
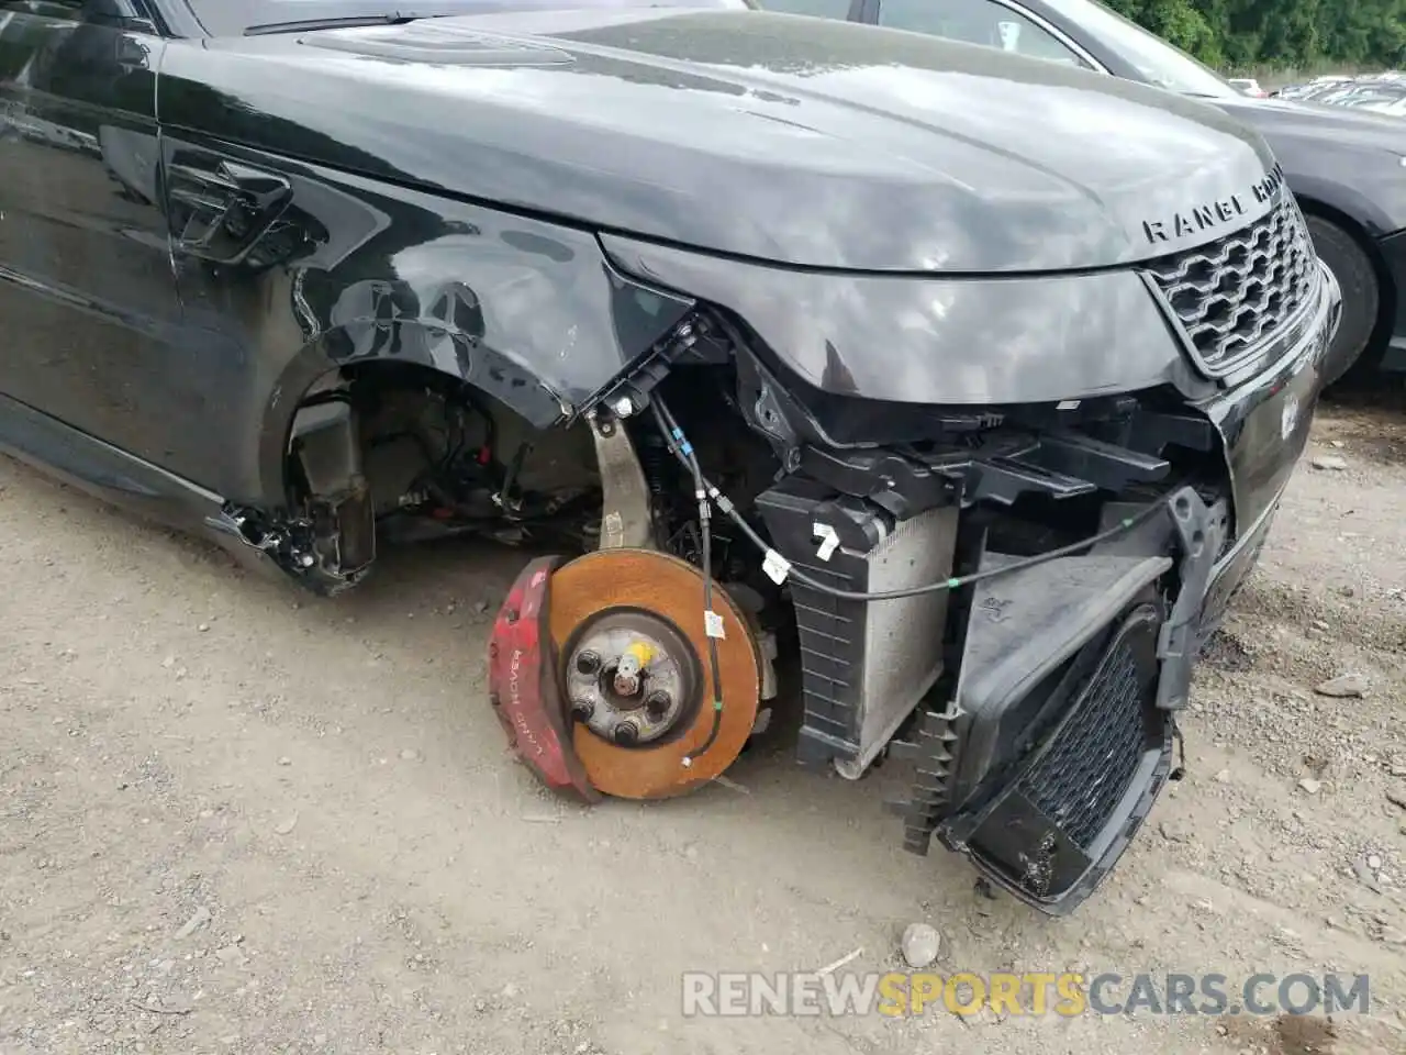
<svg viewBox="0 0 1406 1055">
<path fill-rule="evenodd" d="M 340 366 L 426 366 L 546 428 L 690 307 L 586 231 L 228 146 L 236 110 L 316 134 L 190 82 L 174 108 L 214 136 L 159 135 L 166 48 L 201 45 L 0 13 L 0 446 L 27 460 L 181 525 L 276 512 L 298 399 Z"/>
</svg>

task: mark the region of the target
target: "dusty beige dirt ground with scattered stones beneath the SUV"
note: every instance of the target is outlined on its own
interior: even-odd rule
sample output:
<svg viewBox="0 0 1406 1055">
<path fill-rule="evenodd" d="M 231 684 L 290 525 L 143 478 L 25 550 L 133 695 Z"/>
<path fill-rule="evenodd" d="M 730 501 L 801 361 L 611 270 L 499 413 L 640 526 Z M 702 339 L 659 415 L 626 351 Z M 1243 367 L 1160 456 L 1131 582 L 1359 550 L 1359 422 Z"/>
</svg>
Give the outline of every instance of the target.
<svg viewBox="0 0 1406 1055">
<path fill-rule="evenodd" d="M 1047 920 L 785 744 L 685 800 L 538 791 L 484 698 L 517 561 L 322 602 L 0 459 L 0 1052 L 1406 1051 L 1406 405 L 1327 405 L 1198 675 L 1189 772 Z M 1315 686 L 1358 674 L 1365 698 Z M 1392 799 L 1396 799 L 1393 802 Z M 1331 1023 L 685 1018 L 681 972 L 1340 971 Z"/>
</svg>

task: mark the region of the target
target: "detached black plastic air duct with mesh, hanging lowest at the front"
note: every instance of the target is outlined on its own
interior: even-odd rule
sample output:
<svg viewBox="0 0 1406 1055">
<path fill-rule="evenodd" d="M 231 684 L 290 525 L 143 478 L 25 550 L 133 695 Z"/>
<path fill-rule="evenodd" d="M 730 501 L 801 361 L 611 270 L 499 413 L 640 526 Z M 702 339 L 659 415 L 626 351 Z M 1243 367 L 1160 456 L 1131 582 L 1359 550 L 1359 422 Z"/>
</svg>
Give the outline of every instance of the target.
<svg viewBox="0 0 1406 1055">
<path fill-rule="evenodd" d="M 1171 772 L 1226 529 L 1225 506 L 1189 488 L 1163 501 L 1166 516 L 1114 551 L 977 584 L 952 703 L 893 746 L 917 768 L 898 807 L 910 851 L 925 854 L 935 833 L 1053 916 L 1114 868 Z"/>
</svg>

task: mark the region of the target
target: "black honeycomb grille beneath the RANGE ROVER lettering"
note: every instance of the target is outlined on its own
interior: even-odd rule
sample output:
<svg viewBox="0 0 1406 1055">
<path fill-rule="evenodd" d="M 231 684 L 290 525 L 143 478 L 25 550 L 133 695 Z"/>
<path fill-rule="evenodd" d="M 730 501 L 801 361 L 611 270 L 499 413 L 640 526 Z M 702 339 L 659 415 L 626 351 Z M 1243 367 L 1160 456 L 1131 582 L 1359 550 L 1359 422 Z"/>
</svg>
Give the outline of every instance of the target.
<svg viewBox="0 0 1406 1055">
<path fill-rule="evenodd" d="M 1153 260 L 1147 271 L 1212 373 L 1232 369 L 1292 319 L 1317 274 L 1303 217 L 1288 193 L 1243 231 Z"/>
</svg>

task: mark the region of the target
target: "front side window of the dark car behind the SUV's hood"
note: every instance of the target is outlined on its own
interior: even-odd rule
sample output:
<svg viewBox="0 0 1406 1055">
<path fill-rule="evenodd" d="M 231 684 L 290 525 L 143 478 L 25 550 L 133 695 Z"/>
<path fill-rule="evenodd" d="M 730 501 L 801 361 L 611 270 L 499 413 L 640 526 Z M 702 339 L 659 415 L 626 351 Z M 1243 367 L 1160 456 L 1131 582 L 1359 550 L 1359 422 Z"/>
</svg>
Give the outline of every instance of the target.
<svg viewBox="0 0 1406 1055">
<path fill-rule="evenodd" d="M 998 0 L 876 0 L 877 24 L 1081 69 L 1098 63 L 1032 11 Z"/>
</svg>

